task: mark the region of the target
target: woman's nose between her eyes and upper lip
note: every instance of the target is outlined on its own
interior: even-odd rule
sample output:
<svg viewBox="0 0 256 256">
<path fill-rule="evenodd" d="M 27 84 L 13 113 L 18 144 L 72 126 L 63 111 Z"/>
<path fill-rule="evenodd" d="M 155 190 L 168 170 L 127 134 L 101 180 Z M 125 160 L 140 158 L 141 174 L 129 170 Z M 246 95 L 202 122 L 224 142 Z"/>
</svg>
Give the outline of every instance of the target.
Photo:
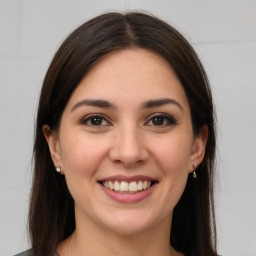
<svg viewBox="0 0 256 256">
<path fill-rule="evenodd" d="M 125 127 L 115 133 L 113 146 L 109 152 L 111 161 L 134 167 L 148 159 L 148 150 L 141 132 L 136 127 Z"/>
</svg>

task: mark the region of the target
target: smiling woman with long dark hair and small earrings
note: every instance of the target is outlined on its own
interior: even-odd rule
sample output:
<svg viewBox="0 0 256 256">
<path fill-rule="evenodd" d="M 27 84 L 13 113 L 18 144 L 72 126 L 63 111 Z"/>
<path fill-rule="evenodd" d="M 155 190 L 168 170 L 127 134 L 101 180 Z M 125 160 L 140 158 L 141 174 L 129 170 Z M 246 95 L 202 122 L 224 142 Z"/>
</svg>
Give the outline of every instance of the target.
<svg viewBox="0 0 256 256">
<path fill-rule="evenodd" d="M 174 28 L 143 13 L 80 26 L 41 91 L 23 255 L 217 255 L 214 125 Z"/>
</svg>

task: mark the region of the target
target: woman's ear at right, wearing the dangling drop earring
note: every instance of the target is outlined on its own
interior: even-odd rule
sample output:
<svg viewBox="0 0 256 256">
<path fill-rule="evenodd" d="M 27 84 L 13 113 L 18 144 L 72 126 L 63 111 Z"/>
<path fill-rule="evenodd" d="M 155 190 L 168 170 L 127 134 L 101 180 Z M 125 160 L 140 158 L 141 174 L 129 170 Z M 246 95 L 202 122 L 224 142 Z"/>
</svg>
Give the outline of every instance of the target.
<svg viewBox="0 0 256 256">
<path fill-rule="evenodd" d="M 190 156 L 189 172 L 194 171 L 193 164 L 197 166 L 203 161 L 205 155 L 205 147 L 208 138 L 208 126 L 204 125 L 199 134 L 194 138 L 192 151 Z"/>
</svg>

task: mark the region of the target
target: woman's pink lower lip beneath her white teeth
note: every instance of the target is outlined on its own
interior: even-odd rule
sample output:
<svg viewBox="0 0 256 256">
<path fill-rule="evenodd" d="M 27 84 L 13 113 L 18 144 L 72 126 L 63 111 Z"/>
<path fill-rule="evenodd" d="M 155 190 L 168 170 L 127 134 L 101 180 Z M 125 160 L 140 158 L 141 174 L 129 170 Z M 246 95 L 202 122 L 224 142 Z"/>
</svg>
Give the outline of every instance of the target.
<svg viewBox="0 0 256 256">
<path fill-rule="evenodd" d="M 149 187 L 146 190 L 142 190 L 134 194 L 128 194 L 128 193 L 118 193 L 115 190 L 108 189 L 100 184 L 102 190 L 107 194 L 107 196 L 109 196 L 111 199 L 119 203 L 126 203 L 126 204 L 140 202 L 148 198 L 152 194 L 156 185 L 157 183 L 154 183 L 151 187 Z"/>
</svg>

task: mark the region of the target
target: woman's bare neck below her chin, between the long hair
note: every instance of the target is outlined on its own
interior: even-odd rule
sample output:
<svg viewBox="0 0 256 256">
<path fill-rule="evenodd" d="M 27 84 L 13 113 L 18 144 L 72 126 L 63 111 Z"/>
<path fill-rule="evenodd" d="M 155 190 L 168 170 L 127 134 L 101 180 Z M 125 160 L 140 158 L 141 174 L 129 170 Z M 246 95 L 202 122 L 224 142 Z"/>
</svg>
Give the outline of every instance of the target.
<svg viewBox="0 0 256 256">
<path fill-rule="evenodd" d="M 60 256 L 178 256 L 170 246 L 171 218 L 161 225 L 132 234 L 120 234 L 76 214 L 77 228 L 60 246 Z"/>
</svg>

